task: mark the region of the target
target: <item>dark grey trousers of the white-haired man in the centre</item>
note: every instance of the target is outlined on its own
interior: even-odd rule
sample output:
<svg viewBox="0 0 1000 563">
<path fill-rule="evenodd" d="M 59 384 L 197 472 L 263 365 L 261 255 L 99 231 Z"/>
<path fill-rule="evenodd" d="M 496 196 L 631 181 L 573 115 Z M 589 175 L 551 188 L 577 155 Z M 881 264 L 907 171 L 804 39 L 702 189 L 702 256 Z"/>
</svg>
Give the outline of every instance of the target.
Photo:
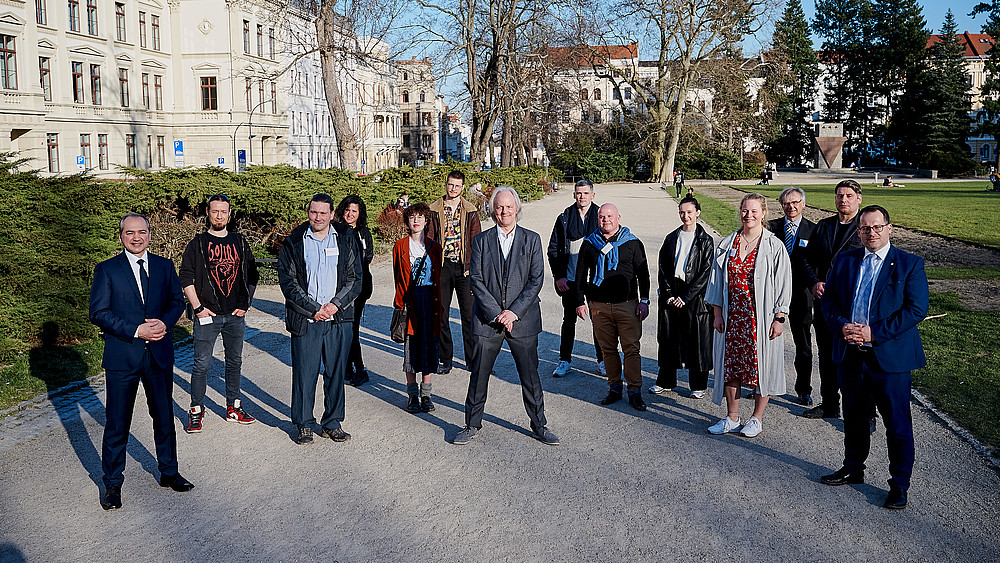
<svg viewBox="0 0 1000 563">
<path fill-rule="evenodd" d="M 474 428 L 483 427 L 483 411 L 486 409 L 486 394 L 490 385 L 490 372 L 500 354 L 500 346 L 507 341 L 514 356 L 514 366 L 521 378 L 521 397 L 524 410 L 531 420 L 531 429 L 545 426 L 545 403 L 542 399 L 542 382 L 538 379 L 538 335 L 513 338 L 506 333 L 495 336 L 476 337 L 472 352 L 472 377 L 469 379 L 469 393 L 465 397 L 465 424 Z"/>
</svg>

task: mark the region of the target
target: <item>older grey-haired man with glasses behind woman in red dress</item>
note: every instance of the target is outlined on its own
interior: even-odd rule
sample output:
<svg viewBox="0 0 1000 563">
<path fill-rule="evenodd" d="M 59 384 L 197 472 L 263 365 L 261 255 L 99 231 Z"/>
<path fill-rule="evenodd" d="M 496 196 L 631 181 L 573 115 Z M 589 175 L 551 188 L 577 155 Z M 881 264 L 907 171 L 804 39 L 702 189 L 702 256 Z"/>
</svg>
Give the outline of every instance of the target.
<svg viewBox="0 0 1000 563">
<path fill-rule="evenodd" d="M 816 224 L 802 216 L 806 193 L 801 188 L 785 188 L 778 197 L 785 216 L 768 221 L 767 228 L 785 243 L 792 261 L 792 304 L 788 312 L 792 339 L 795 341 L 795 393 L 799 403 L 812 406 L 812 325 L 813 296 L 802 268 L 806 248 Z"/>
</svg>

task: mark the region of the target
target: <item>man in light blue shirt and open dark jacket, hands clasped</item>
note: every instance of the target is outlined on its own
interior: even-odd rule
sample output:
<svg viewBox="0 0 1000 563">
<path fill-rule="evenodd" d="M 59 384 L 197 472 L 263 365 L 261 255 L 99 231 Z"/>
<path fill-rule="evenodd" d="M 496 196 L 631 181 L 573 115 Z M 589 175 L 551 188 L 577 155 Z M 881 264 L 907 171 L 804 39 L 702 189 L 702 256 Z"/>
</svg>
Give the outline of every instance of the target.
<svg viewBox="0 0 1000 563">
<path fill-rule="evenodd" d="M 361 294 L 361 260 L 351 227 L 331 223 L 333 199 L 316 194 L 309 221 L 296 227 L 278 253 L 285 327 L 292 334 L 292 423 L 296 442 L 313 441 L 316 379 L 323 370 L 322 435 L 346 442 L 344 374 L 351 351 L 354 300 Z"/>
</svg>

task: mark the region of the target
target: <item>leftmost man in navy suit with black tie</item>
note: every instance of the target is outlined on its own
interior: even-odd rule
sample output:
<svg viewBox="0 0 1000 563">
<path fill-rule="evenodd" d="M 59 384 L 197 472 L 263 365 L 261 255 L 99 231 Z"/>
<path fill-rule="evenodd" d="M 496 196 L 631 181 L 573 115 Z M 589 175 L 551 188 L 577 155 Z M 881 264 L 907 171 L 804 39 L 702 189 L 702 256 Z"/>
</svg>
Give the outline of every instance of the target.
<svg viewBox="0 0 1000 563">
<path fill-rule="evenodd" d="M 122 506 L 125 447 L 140 381 L 153 418 L 160 486 L 178 492 L 194 488 L 177 472 L 173 415 L 174 344 L 170 330 L 184 311 L 181 284 L 173 262 L 146 251 L 149 221 L 145 217 L 126 215 L 118 234 L 125 252 L 97 265 L 90 289 L 90 322 L 104 332 L 104 510 Z"/>
</svg>

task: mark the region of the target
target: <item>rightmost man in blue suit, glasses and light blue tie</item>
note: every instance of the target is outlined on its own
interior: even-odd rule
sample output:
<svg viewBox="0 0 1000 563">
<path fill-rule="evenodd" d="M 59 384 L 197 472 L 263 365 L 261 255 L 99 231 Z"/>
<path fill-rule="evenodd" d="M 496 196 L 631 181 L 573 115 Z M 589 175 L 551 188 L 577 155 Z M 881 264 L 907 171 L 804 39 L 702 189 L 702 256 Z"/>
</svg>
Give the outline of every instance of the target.
<svg viewBox="0 0 1000 563">
<path fill-rule="evenodd" d="M 913 470 L 910 372 L 927 365 L 917 323 L 927 316 L 924 261 L 889 243 L 889 212 L 861 210 L 864 248 L 837 257 L 821 301 L 837 335 L 833 361 L 844 400 L 844 466 L 820 480 L 827 485 L 864 482 L 871 446 L 868 417 L 877 407 L 885 420 L 889 496 L 884 506 L 906 507 Z"/>
</svg>

